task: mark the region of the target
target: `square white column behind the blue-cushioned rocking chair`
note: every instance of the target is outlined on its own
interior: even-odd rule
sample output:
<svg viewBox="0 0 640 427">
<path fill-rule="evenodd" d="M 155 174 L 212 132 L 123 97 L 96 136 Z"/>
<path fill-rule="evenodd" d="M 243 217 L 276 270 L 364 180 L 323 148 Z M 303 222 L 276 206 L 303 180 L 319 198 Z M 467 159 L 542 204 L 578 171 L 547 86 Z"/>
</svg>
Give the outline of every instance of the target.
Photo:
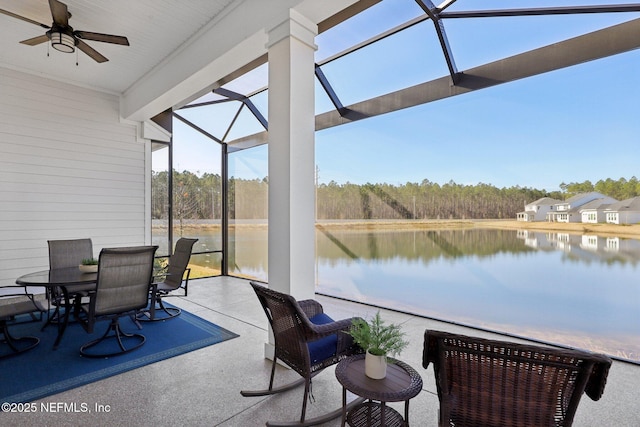
<svg viewBox="0 0 640 427">
<path fill-rule="evenodd" d="M 317 26 L 290 10 L 269 31 L 269 287 L 315 293 L 314 39 Z"/>
</svg>

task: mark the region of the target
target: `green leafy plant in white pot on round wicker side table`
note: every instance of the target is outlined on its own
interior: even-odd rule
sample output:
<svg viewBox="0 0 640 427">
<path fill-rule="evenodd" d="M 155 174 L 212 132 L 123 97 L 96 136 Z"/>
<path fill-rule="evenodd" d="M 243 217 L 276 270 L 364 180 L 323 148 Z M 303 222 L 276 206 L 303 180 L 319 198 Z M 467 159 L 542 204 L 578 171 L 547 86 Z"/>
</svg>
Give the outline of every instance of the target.
<svg viewBox="0 0 640 427">
<path fill-rule="evenodd" d="M 365 351 L 365 374 L 382 379 L 387 374 L 387 357 L 395 356 L 409 344 L 399 325 L 386 324 L 380 311 L 370 320 L 357 319 L 351 325 L 349 335 Z"/>
</svg>

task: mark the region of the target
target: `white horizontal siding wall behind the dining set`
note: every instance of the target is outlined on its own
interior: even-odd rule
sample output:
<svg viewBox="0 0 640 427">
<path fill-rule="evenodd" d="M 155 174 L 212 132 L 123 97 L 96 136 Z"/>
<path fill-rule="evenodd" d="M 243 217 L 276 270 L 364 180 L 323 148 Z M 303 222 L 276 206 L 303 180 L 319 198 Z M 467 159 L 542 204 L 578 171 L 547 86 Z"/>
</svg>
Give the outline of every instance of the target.
<svg viewBox="0 0 640 427">
<path fill-rule="evenodd" d="M 145 243 L 145 144 L 118 105 L 0 68 L 0 285 L 48 268 L 49 239 Z"/>
</svg>

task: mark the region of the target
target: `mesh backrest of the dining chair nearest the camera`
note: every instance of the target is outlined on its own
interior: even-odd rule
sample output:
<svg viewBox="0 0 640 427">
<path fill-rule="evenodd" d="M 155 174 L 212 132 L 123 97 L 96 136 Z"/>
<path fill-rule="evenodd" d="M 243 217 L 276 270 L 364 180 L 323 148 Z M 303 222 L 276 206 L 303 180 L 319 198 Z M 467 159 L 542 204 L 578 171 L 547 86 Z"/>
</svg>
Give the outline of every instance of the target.
<svg viewBox="0 0 640 427">
<path fill-rule="evenodd" d="M 96 284 L 95 315 L 147 306 L 157 246 L 103 249 Z"/>
</svg>

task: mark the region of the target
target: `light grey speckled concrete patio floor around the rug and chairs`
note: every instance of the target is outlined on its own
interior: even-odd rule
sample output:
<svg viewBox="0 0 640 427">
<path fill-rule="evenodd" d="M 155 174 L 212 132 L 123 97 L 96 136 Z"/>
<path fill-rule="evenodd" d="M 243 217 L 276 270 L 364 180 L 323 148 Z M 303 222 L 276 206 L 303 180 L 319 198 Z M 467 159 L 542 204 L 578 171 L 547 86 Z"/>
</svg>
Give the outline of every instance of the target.
<svg viewBox="0 0 640 427">
<path fill-rule="evenodd" d="M 318 296 L 333 318 L 369 317 L 373 307 Z M 193 351 L 134 371 L 69 390 L 43 402 L 100 405 L 105 412 L 0 413 L 0 424 L 11 426 L 263 426 L 268 420 L 293 421 L 300 415 L 302 388 L 270 397 L 242 397 L 240 390 L 263 389 L 268 384 L 270 362 L 264 359 L 267 320 L 248 282 L 229 277 L 192 280 L 188 297 L 170 302 L 240 335 L 217 345 Z M 422 368 L 425 329 L 440 329 L 506 339 L 403 313 L 382 310 L 386 320 L 402 323 L 411 343 L 399 357 L 413 366 L 424 381 L 422 392 L 410 402 L 413 426 L 436 426 L 438 398 L 433 370 Z M 513 339 L 508 339 L 513 340 Z M 64 341 L 62 343 L 64 345 Z M 46 361 L 43 360 L 43 363 Z M 27 368 L 28 369 L 28 368 Z M 64 369 L 64 367 L 52 367 Z M 315 401 L 308 417 L 341 405 L 341 386 L 329 368 L 313 381 Z M 279 368 L 276 382 L 299 378 Z M 19 379 L 19 373 L 13 380 Z M 638 427 L 640 366 L 614 361 L 604 396 L 598 402 L 582 397 L 574 426 Z M 40 402 L 40 401 L 38 401 Z M 402 410 L 402 404 L 392 404 Z M 340 420 L 324 424 L 339 426 Z"/>
</svg>

